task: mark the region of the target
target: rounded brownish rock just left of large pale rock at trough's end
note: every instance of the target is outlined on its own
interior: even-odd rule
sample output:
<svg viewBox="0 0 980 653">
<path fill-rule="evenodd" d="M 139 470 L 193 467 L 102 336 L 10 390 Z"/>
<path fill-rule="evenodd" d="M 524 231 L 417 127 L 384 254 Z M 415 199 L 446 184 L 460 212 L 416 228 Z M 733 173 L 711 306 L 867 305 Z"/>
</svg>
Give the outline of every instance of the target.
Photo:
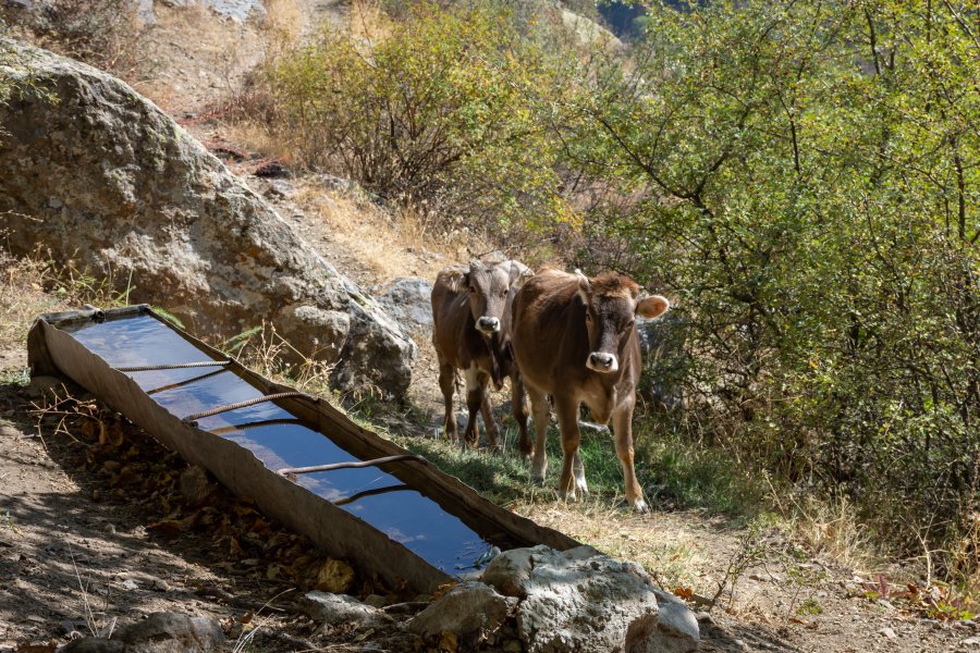
<svg viewBox="0 0 980 653">
<path fill-rule="evenodd" d="M 422 637 L 443 632 L 465 636 L 493 632 L 504 623 L 517 601 L 501 596 L 481 582 L 461 582 L 408 621 L 407 628 Z"/>
</svg>

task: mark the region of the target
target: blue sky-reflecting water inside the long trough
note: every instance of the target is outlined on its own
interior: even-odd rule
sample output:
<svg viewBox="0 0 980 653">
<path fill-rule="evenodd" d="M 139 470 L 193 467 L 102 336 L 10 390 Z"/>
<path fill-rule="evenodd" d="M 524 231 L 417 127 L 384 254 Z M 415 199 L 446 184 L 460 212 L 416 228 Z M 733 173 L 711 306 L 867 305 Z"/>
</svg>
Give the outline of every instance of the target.
<svg viewBox="0 0 980 653">
<path fill-rule="evenodd" d="M 213 360 L 147 313 L 62 329 L 115 368 Z M 126 373 L 154 401 L 181 418 L 264 395 L 242 377 L 217 365 Z M 271 402 L 205 417 L 197 426 L 248 448 L 271 470 L 357 460 L 329 434 Z M 506 542 L 481 537 L 433 498 L 406 485 L 397 472 L 377 467 L 338 469 L 302 475 L 296 482 L 449 575 L 471 571 L 488 562 L 495 547 L 509 547 Z"/>
</svg>

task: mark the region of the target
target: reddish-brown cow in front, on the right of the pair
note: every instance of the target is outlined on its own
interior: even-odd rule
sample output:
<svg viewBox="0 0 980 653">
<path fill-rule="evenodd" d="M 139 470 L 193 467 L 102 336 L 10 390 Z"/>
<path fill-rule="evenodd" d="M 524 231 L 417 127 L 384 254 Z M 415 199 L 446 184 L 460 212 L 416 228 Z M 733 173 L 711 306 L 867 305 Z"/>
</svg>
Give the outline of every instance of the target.
<svg viewBox="0 0 980 653">
<path fill-rule="evenodd" d="M 542 482 L 548 468 L 544 434 L 551 395 L 562 434 L 564 497 L 588 492 L 578 455 L 578 407 L 585 402 L 602 423 L 613 420 L 616 455 L 623 464 L 626 501 L 636 510 L 647 504 L 633 468 L 633 407 L 640 377 L 640 347 L 634 318 L 656 318 L 670 304 L 660 295 L 639 297 L 627 276 L 607 273 L 588 279 L 576 270 L 543 269 L 514 299 L 513 348 L 531 401 L 535 447 L 531 478 Z M 530 446 L 522 442 L 522 451 Z"/>
</svg>

